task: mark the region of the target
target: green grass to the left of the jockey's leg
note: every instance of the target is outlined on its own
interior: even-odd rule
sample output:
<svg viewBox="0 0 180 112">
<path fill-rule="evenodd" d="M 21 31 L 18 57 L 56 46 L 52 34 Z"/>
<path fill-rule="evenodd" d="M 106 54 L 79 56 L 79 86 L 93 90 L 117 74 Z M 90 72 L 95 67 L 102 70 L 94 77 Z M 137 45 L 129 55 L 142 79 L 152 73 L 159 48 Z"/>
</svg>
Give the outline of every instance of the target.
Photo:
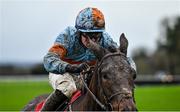
<svg viewBox="0 0 180 112">
<path fill-rule="evenodd" d="M 0 110 L 21 110 L 35 96 L 50 93 L 44 82 L 0 82 Z"/>
</svg>

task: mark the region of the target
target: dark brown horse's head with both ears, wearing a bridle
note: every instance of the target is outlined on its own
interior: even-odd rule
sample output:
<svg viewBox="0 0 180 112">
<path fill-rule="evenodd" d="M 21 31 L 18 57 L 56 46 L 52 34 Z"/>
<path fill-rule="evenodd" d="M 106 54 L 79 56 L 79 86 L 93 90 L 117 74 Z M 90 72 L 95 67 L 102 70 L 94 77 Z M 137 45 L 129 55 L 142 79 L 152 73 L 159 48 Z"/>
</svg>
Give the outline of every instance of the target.
<svg viewBox="0 0 180 112">
<path fill-rule="evenodd" d="M 120 47 L 111 49 L 113 53 L 93 42 L 90 48 L 99 60 L 95 71 L 99 100 L 113 111 L 136 110 L 133 98 L 136 72 L 128 63 L 128 40 L 124 34 L 120 36 Z"/>
</svg>

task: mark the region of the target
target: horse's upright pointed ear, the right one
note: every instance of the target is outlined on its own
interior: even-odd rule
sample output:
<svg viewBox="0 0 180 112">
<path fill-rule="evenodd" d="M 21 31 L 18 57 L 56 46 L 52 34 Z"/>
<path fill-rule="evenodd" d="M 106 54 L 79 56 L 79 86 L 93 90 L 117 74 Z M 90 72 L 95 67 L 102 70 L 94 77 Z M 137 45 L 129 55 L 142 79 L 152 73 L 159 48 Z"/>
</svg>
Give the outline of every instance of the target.
<svg viewBox="0 0 180 112">
<path fill-rule="evenodd" d="M 125 55 L 127 55 L 128 40 L 125 37 L 124 33 L 121 34 L 119 42 L 120 42 L 120 47 L 119 47 L 120 51 Z"/>
</svg>

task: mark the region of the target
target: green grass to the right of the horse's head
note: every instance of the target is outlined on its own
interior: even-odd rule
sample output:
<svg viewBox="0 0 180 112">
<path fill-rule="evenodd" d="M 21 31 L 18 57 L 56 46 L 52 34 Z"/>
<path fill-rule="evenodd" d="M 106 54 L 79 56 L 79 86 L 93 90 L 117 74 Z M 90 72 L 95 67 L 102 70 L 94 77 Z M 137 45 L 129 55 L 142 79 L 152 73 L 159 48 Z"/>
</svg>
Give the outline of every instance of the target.
<svg viewBox="0 0 180 112">
<path fill-rule="evenodd" d="M 180 111 L 180 85 L 137 87 L 135 98 L 139 110 Z"/>
</svg>

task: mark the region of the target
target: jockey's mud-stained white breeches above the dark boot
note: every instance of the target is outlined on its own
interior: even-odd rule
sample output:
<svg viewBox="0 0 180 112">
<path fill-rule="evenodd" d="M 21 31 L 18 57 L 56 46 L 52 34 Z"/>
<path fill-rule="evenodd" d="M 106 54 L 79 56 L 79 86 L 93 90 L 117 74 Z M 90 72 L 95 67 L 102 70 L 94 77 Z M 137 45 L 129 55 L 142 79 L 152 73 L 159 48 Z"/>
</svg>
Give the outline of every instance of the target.
<svg viewBox="0 0 180 112">
<path fill-rule="evenodd" d="M 53 89 L 58 89 L 68 98 L 77 90 L 75 81 L 69 73 L 64 74 L 54 74 L 49 73 L 49 83 Z"/>
</svg>

